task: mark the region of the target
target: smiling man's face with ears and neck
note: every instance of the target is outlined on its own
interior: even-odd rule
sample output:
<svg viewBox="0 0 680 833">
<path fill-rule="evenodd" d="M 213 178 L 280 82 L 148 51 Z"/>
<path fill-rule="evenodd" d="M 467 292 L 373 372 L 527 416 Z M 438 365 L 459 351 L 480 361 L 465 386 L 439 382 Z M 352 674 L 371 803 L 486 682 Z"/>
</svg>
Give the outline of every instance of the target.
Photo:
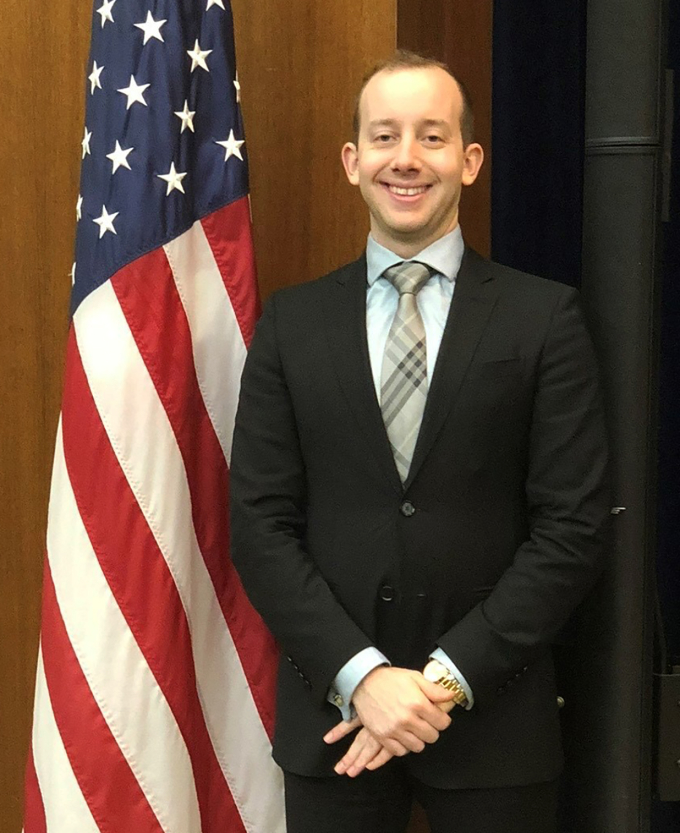
<svg viewBox="0 0 680 833">
<path fill-rule="evenodd" d="M 347 178 L 370 211 L 375 240 L 410 257 L 458 223 L 463 185 L 482 148 L 463 149 L 458 84 L 439 67 L 379 72 L 360 99 L 358 144 L 342 149 Z"/>
</svg>

